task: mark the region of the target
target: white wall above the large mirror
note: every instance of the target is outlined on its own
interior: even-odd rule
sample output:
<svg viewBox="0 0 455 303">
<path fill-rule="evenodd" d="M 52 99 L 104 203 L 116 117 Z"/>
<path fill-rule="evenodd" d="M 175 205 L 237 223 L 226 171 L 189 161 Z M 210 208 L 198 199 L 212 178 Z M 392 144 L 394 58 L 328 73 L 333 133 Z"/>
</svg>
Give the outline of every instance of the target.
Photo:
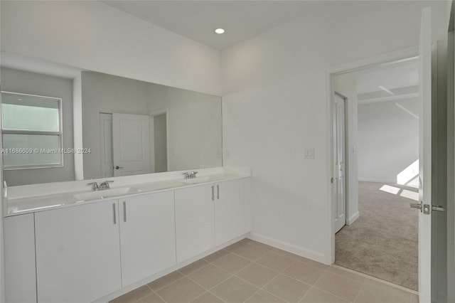
<svg viewBox="0 0 455 303">
<path fill-rule="evenodd" d="M 220 95 L 220 53 L 100 1 L 1 1 L 1 51 Z"/>
</svg>

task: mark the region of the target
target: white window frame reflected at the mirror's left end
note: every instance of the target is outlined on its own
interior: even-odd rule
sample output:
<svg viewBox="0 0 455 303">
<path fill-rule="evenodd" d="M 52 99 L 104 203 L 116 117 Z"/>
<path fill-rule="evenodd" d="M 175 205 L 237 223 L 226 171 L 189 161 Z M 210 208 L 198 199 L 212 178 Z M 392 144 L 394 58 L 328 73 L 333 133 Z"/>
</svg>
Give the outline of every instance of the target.
<svg viewBox="0 0 455 303">
<path fill-rule="evenodd" d="M 59 144 L 59 149 L 63 149 L 63 102 L 62 98 L 60 97 L 50 97 L 50 96 L 43 96 L 43 95 L 32 95 L 32 94 L 25 94 L 22 92 L 10 92 L 6 90 L 1 90 L 0 91 L 0 106 L 3 106 L 3 95 L 16 95 L 16 96 L 27 96 L 27 97 L 40 97 L 43 99 L 51 99 L 51 100 L 57 100 L 58 101 L 58 127 L 59 131 L 58 132 L 53 132 L 53 131 L 43 131 L 43 130 L 23 130 L 23 129 L 4 129 L 4 121 L 3 121 L 3 109 L 1 109 L 1 125 L 0 125 L 0 131 L 1 131 L 1 143 L 2 147 L 4 146 L 3 142 L 3 135 L 4 134 L 43 134 L 43 135 L 57 135 L 59 137 L 58 139 L 58 144 Z M 14 171 L 14 170 L 20 170 L 20 169 L 51 169 L 51 168 L 57 168 L 57 167 L 63 167 L 63 153 L 59 152 L 60 155 L 59 159 L 60 162 L 56 164 L 27 164 L 27 165 L 11 165 L 11 166 L 5 166 L 5 161 L 4 161 L 4 155 L 2 156 L 2 161 L 3 161 L 3 169 L 5 171 Z"/>
</svg>

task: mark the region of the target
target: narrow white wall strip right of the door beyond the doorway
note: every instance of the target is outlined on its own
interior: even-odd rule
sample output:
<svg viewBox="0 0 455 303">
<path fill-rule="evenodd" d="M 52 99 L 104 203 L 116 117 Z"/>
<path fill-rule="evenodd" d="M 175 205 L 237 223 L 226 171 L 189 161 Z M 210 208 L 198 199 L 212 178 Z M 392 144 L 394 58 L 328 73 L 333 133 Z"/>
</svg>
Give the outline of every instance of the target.
<svg viewBox="0 0 455 303">
<path fill-rule="evenodd" d="M 333 77 L 333 90 L 347 98 L 346 111 L 346 223 L 357 220 L 358 213 L 358 113 L 357 78 L 353 73 Z M 354 152 L 355 151 L 355 152 Z"/>
</svg>

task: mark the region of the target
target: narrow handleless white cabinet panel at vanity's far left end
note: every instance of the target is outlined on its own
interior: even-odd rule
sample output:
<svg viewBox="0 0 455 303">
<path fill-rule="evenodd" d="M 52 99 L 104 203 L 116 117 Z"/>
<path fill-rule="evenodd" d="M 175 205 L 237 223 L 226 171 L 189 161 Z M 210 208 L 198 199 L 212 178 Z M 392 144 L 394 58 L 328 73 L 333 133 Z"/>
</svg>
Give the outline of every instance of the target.
<svg viewBox="0 0 455 303">
<path fill-rule="evenodd" d="M 4 218 L 6 302 L 36 302 L 33 213 Z"/>
</svg>

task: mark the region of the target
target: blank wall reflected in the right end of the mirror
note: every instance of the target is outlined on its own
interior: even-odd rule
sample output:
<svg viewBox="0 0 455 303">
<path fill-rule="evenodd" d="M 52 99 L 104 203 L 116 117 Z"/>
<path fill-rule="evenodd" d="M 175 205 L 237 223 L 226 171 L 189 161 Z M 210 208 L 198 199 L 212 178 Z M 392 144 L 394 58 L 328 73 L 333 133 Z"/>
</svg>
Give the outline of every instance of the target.
<svg viewBox="0 0 455 303">
<path fill-rule="evenodd" d="M 221 97 L 149 84 L 148 114 L 167 112 L 168 170 L 221 166 Z"/>
</svg>

